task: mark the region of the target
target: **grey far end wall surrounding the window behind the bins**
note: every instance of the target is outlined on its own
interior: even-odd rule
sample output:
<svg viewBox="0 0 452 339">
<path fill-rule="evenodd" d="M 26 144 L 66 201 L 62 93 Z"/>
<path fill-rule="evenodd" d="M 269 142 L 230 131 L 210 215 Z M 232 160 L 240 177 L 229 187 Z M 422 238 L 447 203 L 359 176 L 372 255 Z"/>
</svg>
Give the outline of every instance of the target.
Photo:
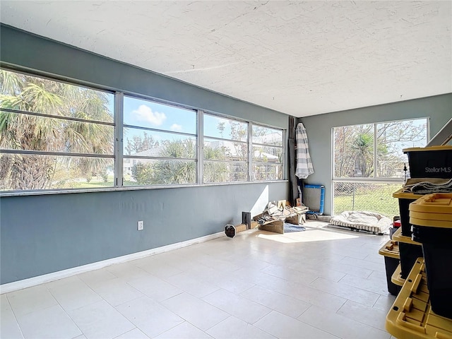
<svg viewBox="0 0 452 339">
<path fill-rule="evenodd" d="M 452 94 L 319 114 L 301 119 L 307 129 L 309 152 L 314 165 L 314 174 L 311 174 L 306 182 L 323 184 L 326 187 L 326 215 L 330 215 L 332 210 L 331 136 L 333 127 L 420 117 L 430 117 L 430 136 L 434 136 L 452 117 Z"/>
</svg>

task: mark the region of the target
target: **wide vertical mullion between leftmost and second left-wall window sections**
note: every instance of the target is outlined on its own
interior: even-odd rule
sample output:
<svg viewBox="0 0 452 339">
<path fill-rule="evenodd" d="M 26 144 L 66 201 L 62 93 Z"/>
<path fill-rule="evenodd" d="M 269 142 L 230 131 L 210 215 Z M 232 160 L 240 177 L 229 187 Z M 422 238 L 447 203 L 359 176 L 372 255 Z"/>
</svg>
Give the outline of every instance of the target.
<svg viewBox="0 0 452 339">
<path fill-rule="evenodd" d="M 123 186 L 124 93 L 114 93 L 114 186 Z"/>
</svg>

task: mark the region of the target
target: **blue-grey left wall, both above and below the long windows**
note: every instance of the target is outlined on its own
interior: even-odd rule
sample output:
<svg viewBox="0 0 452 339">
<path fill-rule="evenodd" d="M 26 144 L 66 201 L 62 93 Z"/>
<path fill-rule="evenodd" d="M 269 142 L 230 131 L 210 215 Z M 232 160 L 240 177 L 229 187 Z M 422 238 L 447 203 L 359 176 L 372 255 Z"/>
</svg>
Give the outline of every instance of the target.
<svg viewBox="0 0 452 339">
<path fill-rule="evenodd" d="M 1 25 L 6 66 L 287 129 L 288 116 Z M 0 198 L 0 283 L 222 232 L 288 198 L 287 182 Z M 136 222 L 144 220 L 144 230 Z M 225 239 L 227 241 L 227 239 Z"/>
</svg>

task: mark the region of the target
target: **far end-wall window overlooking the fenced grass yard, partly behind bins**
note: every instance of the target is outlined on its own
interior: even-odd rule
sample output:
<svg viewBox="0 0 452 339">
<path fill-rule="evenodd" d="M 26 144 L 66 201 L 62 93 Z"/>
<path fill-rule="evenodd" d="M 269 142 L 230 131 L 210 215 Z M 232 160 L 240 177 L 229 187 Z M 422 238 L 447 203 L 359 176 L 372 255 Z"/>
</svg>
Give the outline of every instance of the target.
<svg viewBox="0 0 452 339">
<path fill-rule="evenodd" d="M 392 197 L 408 177 L 404 148 L 427 144 L 427 119 L 333 129 L 333 212 L 373 210 L 397 215 Z"/>
</svg>

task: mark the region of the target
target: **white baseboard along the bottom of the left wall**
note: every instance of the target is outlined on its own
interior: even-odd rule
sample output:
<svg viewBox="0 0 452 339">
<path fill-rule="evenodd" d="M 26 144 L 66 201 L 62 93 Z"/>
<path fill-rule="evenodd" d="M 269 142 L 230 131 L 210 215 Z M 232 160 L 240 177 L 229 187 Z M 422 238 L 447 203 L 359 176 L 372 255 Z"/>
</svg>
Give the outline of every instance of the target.
<svg viewBox="0 0 452 339">
<path fill-rule="evenodd" d="M 7 283 L 0 285 L 0 295 L 4 293 L 9 293 L 17 290 L 22 290 L 27 287 L 32 287 L 40 285 L 43 283 L 49 283 L 54 280 L 59 280 L 62 278 L 68 278 L 72 275 L 77 275 L 80 273 L 89 272 L 90 270 L 98 270 L 107 266 L 111 266 L 115 263 L 125 263 L 126 261 L 131 261 L 139 258 L 145 258 L 146 256 L 153 256 L 154 254 L 160 254 L 167 251 L 173 251 L 174 249 L 182 249 L 186 246 L 191 246 L 194 244 L 199 244 L 201 242 L 207 242 L 208 240 L 216 239 L 219 237 L 224 237 L 224 232 L 218 232 L 215 234 L 209 234 L 204 237 L 186 240 L 185 242 L 178 242 L 176 244 L 170 244 L 166 246 L 157 247 L 155 249 L 148 249 L 146 251 L 141 251 L 133 254 L 127 254 L 125 256 L 118 256 L 117 258 L 111 258 L 107 260 L 97 261 L 95 263 L 88 263 L 87 265 L 77 266 L 74 268 L 68 268 L 67 270 L 59 270 L 58 272 L 39 275 L 37 277 L 28 278 L 24 280 L 14 281 L 13 283 Z"/>
</svg>

